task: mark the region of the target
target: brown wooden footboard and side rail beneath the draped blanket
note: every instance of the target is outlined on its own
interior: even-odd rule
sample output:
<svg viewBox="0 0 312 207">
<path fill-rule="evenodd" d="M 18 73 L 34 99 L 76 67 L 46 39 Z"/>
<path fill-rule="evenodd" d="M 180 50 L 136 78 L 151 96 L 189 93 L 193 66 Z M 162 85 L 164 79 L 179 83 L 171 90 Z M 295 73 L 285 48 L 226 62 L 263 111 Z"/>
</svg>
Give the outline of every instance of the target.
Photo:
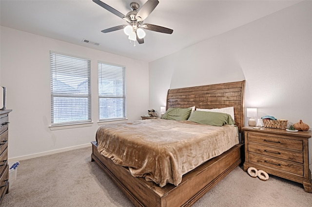
<svg viewBox="0 0 312 207">
<path fill-rule="evenodd" d="M 222 155 L 186 173 L 178 186 L 167 184 L 161 188 L 142 177 L 133 177 L 127 168 L 116 165 L 112 160 L 100 155 L 96 141 L 91 143 L 91 161 L 95 161 L 137 207 L 192 206 L 241 163 L 243 146 L 237 144 Z"/>
</svg>

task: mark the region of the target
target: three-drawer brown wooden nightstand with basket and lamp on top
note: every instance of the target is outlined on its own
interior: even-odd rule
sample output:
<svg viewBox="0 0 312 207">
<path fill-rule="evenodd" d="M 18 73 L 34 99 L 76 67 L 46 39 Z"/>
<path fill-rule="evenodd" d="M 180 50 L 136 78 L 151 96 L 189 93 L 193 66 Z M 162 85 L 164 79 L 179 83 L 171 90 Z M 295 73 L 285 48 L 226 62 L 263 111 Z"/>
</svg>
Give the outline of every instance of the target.
<svg viewBox="0 0 312 207">
<path fill-rule="evenodd" d="M 249 167 L 302 183 L 311 190 L 309 144 L 311 131 L 243 127 L 245 134 L 244 171 Z"/>
</svg>

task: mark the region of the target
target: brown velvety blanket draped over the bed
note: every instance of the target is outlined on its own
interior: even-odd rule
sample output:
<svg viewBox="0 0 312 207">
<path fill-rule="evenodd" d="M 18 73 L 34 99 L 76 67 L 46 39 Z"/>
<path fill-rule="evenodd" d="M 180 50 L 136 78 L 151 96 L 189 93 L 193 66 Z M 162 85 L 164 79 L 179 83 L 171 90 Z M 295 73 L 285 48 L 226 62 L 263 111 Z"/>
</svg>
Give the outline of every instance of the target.
<svg viewBox="0 0 312 207">
<path fill-rule="evenodd" d="M 96 138 L 101 155 L 160 187 L 238 144 L 235 126 L 163 119 L 103 125 Z"/>
</svg>

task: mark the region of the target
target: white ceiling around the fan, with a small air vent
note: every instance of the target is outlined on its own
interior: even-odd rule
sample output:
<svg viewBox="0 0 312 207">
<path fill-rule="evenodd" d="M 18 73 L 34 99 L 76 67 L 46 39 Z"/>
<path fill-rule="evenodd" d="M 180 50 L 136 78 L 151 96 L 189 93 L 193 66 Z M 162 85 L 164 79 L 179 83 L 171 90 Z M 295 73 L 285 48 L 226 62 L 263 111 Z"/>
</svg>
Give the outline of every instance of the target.
<svg viewBox="0 0 312 207">
<path fill-rule="evenodd" d="M 126 15 L 130 3 L 102 0 Z M 130 44 L 122 30 L 101 33 L 126 21 L 92 0 L 0 0 L 2 26 L 118 55 L 153 61 L 190 45 L 289 7 L 298 0 L 159 0 L 144 23 L 173 29 L 172 35 L 146 31 L 144 44 Z M 95 46 L 82 42 L 97 42 Z"/>
</svg>

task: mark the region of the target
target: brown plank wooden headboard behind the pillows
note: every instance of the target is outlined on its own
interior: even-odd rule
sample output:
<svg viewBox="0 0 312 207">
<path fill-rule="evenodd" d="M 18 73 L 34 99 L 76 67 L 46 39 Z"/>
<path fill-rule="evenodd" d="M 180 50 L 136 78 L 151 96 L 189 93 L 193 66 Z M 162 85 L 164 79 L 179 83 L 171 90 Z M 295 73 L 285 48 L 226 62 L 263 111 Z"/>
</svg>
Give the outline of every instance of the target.
<svg viewBox="0 0 312 207">
<path fill-rule="evenodd" d="M 245 81 L 169 89 L 167 109 L 187 108 L 224 108 L 234 106 L 235 125 L 238 131 L 244 126 Z"/>
</svg>

